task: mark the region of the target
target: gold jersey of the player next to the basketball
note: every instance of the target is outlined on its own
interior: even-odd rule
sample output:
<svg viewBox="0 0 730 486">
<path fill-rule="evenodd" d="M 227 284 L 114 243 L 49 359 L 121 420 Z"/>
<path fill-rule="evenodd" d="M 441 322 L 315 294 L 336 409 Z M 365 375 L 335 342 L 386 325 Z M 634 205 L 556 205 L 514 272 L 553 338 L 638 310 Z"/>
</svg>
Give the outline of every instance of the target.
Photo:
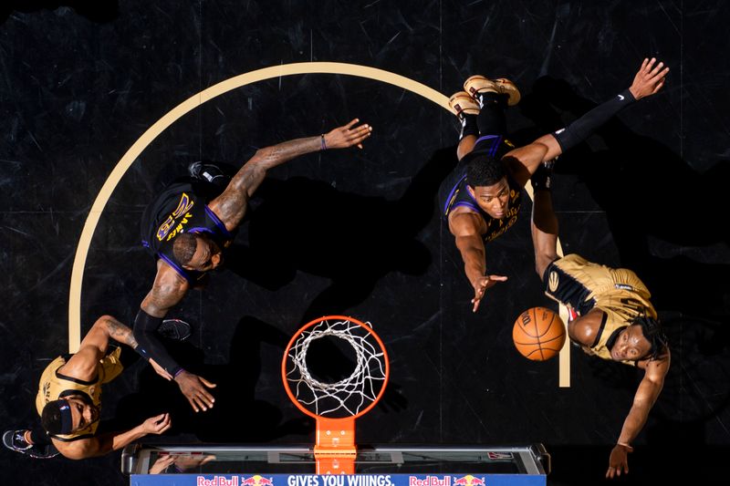
<svg viewBox="0 0 730 486">
<path fill-rule="evenodd" d="M 545 294 L 585 315 L 594 307 L 605 313 L 598 336 L 590 346 L 593 354 L 610 359 L 610 336 L 635 318 L 657 318 L 652 295 L 639 277 L 626 268 L 593 264 L 578 254 L 556 260 L 545 271 Z M 634 365 L 634 361 L 623 361 Z"/>
</svg>

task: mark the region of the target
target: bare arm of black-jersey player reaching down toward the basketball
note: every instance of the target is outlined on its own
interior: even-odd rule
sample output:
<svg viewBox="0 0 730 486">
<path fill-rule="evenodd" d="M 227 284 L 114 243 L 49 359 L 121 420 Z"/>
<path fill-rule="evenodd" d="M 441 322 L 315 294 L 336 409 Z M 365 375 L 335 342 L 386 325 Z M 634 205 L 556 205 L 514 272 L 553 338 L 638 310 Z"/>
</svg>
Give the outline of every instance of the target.
<svg viewBox="0 0 730 486">
<path fill-rule="evenodd" d="M 474 287 L 472 312 L 479 309 L 488 288 L 507 279 L 504 275 L 486 274 L 485 242 L 480 231 L 483 224 L 484 220 L 474 212 L 454 212 L 449 217 L 449 229 L 464 260 L 464 273 Z"/>
</svg>

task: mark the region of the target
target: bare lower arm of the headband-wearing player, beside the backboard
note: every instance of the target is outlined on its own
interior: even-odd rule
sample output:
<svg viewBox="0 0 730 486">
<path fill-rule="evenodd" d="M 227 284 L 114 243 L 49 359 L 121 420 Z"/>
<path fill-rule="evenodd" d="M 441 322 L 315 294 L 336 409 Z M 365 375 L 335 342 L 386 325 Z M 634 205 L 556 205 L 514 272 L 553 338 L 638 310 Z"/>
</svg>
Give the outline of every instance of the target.
<svg viewBox="0 0 730 486">
<path fill-rule="evenodd" d="M 126 432 L 115 432 L 110 434 L 91 437 L 89 439 L 79 439 L 72 442 L 64 442 L 58 439 L 52 439 L 53 445 L 56 446 L 58 452 L 68 459 L 87 459 L 103 456 L 112 450 L 120 450 L 124 446 L 130 444 L 134 440 L 140 439 L 148 434 L 162 434 L 172 427 L 170 414 L 163 413 L 157 417 L 146 419 L 134 429 Z"/>
</svg>

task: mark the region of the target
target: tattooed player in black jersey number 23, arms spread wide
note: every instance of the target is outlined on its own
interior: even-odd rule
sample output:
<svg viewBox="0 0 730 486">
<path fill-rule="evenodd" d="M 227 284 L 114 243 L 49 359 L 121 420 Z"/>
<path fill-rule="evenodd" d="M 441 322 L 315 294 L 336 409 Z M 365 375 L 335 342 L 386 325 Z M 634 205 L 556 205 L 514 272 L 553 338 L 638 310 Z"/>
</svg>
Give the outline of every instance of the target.
<svg viewBox="0 0 730 486">
<path fill-rule="evenodd" d="M 372 128 L 367 124 L 358 125 L 359 122 L 353 119 L 326 134 L 257 150 L 225 190 L 211 201 L 196 193 L 191 184 L 173 184 L 145 211 L 142 240 L 157 257 L 157 275 L 141 303 L 134 322 L 134 336 L 140 343 L 141 354 L 160 364 L 196 412 L 213 407 L 214 398 L 208 388 L 215 385 L 186 371 L 170 356 L 156 333 L 162 318 L 183 300 L 188 290 L 203 284 L 207 272 L 223 263 L 223 251 L 233 242 L 248 200 L 264 181 L 266 171 L 318 150 L 353 145 L 362 148 Z M 209 179 L 214 177 L 209 174 Z"/>
</svg>

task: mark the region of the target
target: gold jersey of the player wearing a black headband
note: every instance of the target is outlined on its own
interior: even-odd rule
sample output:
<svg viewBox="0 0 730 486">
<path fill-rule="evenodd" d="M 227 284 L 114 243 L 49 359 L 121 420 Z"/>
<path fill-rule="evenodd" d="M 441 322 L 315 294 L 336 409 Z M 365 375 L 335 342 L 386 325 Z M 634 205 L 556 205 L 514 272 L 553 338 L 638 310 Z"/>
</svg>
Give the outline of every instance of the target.
<svg viewBox="0 0 730 486">
<path fill-rule="evenodd" d="M 38 394 L 36 395 L 36 410 L 38 410 L 38 415 L 43 412 L 43 408 L 46 407 L 49 401 L 78 393 L 86 395 L 91 400 L 91 403 L 100 408 L 101 385 L 109 383 L 112 379 L 118 377 L 122 371 L 120 353 L 121 348 L 118 347 L 114 352 L 103 357 L 99 361 L 99 367 L 97 367 L 97 377 L 92 381 L 84 381 L 58 373 L 58 369 L 66 364 L 67 360 L 64 357 L 57 357 L 51 361 L 50 365 L 43 371 L 43 375 L 41 375 L 40 382 L 38 383 Z M 96 421 L 73 434 L 53 435 L 51 437 L 64 441 L 85 439 L 94 435 L 98 426 L 99 421 Z"/>
</svg>

